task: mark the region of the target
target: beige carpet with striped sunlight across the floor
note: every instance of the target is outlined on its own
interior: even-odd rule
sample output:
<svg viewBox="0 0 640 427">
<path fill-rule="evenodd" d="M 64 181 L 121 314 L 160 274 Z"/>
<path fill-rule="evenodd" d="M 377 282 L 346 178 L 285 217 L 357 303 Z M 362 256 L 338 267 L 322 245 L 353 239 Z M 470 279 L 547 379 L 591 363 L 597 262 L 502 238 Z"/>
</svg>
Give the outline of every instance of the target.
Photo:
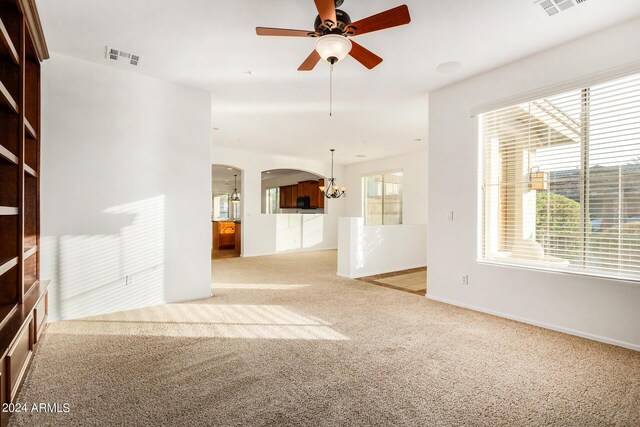
<svg viewBox="0 0 640 427">
<path fill-rule="evenodd" d="M 638 426 L 640 353 L 337 278 L 213 262 L 214 297 L 49 327 L 14 426 Z"/>
</svg>

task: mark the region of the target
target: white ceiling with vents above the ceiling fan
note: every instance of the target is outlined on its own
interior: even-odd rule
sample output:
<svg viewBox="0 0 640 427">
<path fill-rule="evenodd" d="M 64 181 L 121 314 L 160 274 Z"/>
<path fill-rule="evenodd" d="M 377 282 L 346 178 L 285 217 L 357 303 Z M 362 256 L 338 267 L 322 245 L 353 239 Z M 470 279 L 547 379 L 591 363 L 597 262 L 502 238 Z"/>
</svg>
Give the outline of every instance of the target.
<svg viewBox="0 0 640 427">
<path fill-rule="evenodd" d="M 134 72 L 211 91 L 214 146 L 318 160 L 335 147 L 337 163 L 423 149 L 429 91 L 640 16 L 638 0 L 588 0 L 553 17 L 533 0 L 406 0 L 411 24 L 357 38 L 380 66 L 336 66 L 329 118 L 328 65 L 296 70 L 314 40 L 254 29 L 312 29 L 313 0 L 37 3 L 51 51 L 117 66 L 104 59 L 109 45 L 143 56 Z M 341 9 L 355 21 L 401 3 L 345 0 Z M 439 74 L 447 61 L 462 69 Z"/>
</svg>

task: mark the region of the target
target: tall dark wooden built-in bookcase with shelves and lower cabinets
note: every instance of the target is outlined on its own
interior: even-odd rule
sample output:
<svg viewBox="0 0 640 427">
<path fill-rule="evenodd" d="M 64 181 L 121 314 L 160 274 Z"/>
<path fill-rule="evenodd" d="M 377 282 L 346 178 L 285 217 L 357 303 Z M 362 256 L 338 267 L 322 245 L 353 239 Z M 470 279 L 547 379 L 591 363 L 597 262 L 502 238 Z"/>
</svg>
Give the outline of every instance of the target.
<svg viewBox="0 0 640 427">
<path fill-rule="evenodd" d="M 32 0 L 0 0 L 0 399 L 14 402 L 47 322 L 40 281 L 40 62 Z M 1 424 L 8 422 L 2 412 Z"/>
</svg>

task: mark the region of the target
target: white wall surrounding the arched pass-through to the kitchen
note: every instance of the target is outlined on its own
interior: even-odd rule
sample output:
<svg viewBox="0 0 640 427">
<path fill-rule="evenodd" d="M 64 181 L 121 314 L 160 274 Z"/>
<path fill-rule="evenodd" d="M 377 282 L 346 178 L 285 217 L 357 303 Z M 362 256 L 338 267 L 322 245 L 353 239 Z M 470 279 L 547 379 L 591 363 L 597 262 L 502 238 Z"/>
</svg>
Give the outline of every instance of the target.
<svg viewBox="0 0 640 427">
<path fill-rule="evenodd" d="M 343 215 L 345 199 L 327 200 L 324 215 L 262 214 L 263 171 L 298 169 L 327 177 L 331 175 L 330 162 L 214 146 L 211 163 L 229 165 L 243 171 L 242 256 L 337 248 L 338 217 Z M 335 167 L 338 181 L 344 176 L 343 173 L 341 166 Z"/>
</svg>

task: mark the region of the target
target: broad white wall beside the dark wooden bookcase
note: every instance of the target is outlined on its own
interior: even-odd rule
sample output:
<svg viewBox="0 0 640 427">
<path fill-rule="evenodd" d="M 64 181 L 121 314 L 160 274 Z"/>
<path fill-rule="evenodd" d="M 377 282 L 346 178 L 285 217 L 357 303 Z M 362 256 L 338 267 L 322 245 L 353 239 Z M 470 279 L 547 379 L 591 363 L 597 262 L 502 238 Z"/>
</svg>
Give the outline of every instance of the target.
<svg viewBox="0 0 640 427">
<path fill-rule="evenodd" d="M 42 271 L 52 320 L 210 295 L 211 99 L 52 55 Z"/>
</svg>

